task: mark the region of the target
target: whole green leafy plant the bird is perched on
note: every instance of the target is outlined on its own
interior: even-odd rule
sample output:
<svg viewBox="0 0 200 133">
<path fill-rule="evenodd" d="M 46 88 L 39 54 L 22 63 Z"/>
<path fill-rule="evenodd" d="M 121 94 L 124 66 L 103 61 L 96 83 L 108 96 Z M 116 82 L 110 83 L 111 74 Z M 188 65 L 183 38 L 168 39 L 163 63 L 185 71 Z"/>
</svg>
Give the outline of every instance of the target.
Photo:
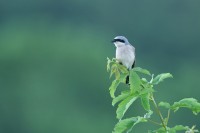
<svg viewBox="0 0 200 133">
<path fill-rule="evenodd" d="M 164 81 L 164 79 L 172 78 L 170 73 L 162 73 L 154 77 L 148 70 L 140 67 L 133 68 L 128 71 L 123 65 L 120 65 L 116 59 L 108 58 L 107 70 L 110 77 L 114 75 L 114 80 L 109 88 L 112 97 L 112 105 L 118 104 L 116 115 L 119 122 L 115 125 L 113 133 L 130 132 L 132 128 L 139 123 L 149 122 L 158 126 L 156 130 L 149 130 L 148 133 L 176 133 L 177 131 L 185 131 L 186 133 L 198 132 L 195 125 L 189 126 L 174 125 L 169 127 L 169 118 L 171 111 L 178 111 L 180 108 L 190 109 L 194 115 L 200 112 L 200 103 L 194 98 L 184 98 L 178 102 L 170 104 L 168 102 L 157 103 L 154 98 L 155 85 Z M 149 76 L 150 80 L 141 78 L 141 75 Z M 125 84 L 126 77 L 129 76 L 129 85 L 123 88 L 121 93 L 116 96 L 116 90 L 120 84 Z M 146 111 L 142 116 L 133 116 L 124 118 L 127 110 L 136 100 L 141 101 L 141 106 Z M 154 109 L 152 109 L 153 107 Z M 167 109 L 167 116 L 164 116 L 159 107 Z M 155 112 L 155 113 L 154 113 Z M 160 121 L 154 120 L 154 114 L 157 114 Z"/>
</svg>

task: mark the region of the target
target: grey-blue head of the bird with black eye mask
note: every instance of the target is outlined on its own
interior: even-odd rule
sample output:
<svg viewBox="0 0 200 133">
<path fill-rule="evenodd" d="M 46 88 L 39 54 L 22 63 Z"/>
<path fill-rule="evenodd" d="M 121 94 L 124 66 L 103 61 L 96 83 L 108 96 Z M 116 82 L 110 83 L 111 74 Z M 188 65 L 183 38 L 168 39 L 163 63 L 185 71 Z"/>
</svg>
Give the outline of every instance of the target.
<svg viewBox="0 0 200 133">
<path fill-rule="evenodd" d="M 128 42 L 128 39 L 124 36 L 116 36 L 113 39 L 112 43 L 114 43 L 116 47 L 121 47 L 121 46 L 130 44 Z"/>
</svg>

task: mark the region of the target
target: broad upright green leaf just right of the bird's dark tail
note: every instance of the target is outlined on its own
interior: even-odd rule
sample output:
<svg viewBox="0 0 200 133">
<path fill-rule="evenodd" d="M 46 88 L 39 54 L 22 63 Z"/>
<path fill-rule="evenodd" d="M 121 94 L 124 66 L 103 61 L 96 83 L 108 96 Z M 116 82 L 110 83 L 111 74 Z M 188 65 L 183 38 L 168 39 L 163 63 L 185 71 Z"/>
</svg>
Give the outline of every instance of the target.
<svg viewBox="0 0 200 133">
<path fill-rule="evenodd" d="M 130 71 L 130 89 L 132 92 L 140 91 L 141 80 L 136 72 L 133 70 Z"/>
</svg>

